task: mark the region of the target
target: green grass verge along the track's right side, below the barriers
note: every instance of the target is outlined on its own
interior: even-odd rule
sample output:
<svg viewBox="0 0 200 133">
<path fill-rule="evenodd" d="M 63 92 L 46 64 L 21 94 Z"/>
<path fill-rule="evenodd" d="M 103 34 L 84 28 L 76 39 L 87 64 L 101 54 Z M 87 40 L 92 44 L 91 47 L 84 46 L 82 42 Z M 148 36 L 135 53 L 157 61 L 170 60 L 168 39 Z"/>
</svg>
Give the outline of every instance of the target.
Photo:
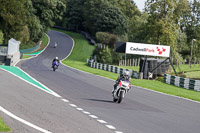
<svg viewBox="0 0 200 133">
<path fill-rule="evenodd" d="M 58 31 L 63 32 L 62 30 L 58 30 Z M 63 61 L 64 64 L 71 66 L 73 68 L 82 70 L 82 71 L 86 71 L 95 75 L 116 80 L 116 78 L 118 77 L 118 74 L 91 68 L 87 66 L 86 58 L 89 58 L 91 56 L 94 46 L 91 46 L 82 35 L 78 33 L 71 33 L 71 32 L 64 32 L 64 33 L 70 35 L 75 40 L 75 46 L 74 46 L 73 52 L 67 59 Z M 151 90 L 163 92 L 166 94 L 171 94 L 175 96 L 180 96 L 180 97 L 200 101 L 200 92 L 187 90 L 184 88 L 179 88 L 173 85 L 168 85 L 161 81 L 131 79 L 131 82 L 135 86 L 144 87 Z"/>
</svg>

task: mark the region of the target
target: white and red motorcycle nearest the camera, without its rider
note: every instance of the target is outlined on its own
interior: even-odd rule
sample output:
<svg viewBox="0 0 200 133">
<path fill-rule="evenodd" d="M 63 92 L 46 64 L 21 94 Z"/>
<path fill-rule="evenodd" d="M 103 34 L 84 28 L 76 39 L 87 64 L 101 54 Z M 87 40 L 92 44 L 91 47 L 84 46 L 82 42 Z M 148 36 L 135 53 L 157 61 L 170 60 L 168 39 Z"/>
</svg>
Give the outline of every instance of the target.
<svg viewBox="0 0 200 133">
<path fill-rule="evenodd" d="M 130 89 L 130 83 L 126 80 L 120 80 L 116 90 L 113 92 L 113 102 L 121 103 L 122 99 Z"/>
</svg>

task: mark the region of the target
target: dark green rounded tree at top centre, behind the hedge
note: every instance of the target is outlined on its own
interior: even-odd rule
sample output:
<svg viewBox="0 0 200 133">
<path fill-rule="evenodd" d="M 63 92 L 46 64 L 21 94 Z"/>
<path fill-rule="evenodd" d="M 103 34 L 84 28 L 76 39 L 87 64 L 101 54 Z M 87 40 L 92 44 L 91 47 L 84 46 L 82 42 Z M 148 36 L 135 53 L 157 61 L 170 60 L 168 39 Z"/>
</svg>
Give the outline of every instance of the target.
<svg viewBox="0 0 200 133">
<path fill-rule="evenodd" d="M 119 36 L 127 32 L 128 23 L 125 15 L 108 0 L 85 0 L 83 12 L 83 26 L 93 35 L 99 31 Z"/>
</svg>

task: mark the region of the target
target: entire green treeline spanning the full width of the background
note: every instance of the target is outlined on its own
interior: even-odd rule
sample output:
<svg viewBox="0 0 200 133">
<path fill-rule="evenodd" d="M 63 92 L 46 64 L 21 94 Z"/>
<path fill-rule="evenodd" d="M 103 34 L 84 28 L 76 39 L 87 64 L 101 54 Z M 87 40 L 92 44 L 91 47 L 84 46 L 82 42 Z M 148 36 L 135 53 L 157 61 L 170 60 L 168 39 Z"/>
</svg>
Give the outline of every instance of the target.
<svg viewBox="0 0 200 133">
<path fill-rule="evenodd" d="M 147 0 L 140 12 L 134 0 L 0 0 L 0 43 L 10 38 L 37 42 L 54 25 L 88 32 L 94 54 L 103 63 L 116 63 L 116 41 L 171 46 L 178 62 L 191 54 L 200 59 L 200 1 Z M 2 42 L 3 41 L 3 42 Z M 129 55 L 130 56 L 130 55 Z"/>
</svg>

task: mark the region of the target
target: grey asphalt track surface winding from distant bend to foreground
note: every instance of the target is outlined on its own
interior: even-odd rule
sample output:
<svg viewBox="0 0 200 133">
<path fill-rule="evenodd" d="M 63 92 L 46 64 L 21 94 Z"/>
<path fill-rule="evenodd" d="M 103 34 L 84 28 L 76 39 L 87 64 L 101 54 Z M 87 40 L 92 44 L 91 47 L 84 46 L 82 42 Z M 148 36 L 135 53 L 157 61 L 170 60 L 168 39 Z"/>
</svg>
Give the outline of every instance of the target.
<svg viewBox="0 0 200 133">
<path fill-rule="evenodd" d="M 105 120 L 123 133 L 200 132 L 200 103 L 133 87 L 122 103 L 117 104 L 112 102 L 111 96 L 114 81 L 64 65 L 53 72 L 52 59 L 56 56 L 65 58 L 71 51 L 73 41 L 70 37 L 54 31 L 50 31 L 48 35 L 51 41 L 47 49 L 36 58 L 20 62 L 18 66 L 63 98 Z M 58 44 L 56 49 L 53 48 L 55 41 Z M 5 103 L 8 103 L 9 99 L 4 99 L 0 105 L 16 110 L 19 116 L 22 115 L 26 120 L 54 133 L 115 131 L 57 101 L 58 98 L 26 85 L 29 86 L 27 88 L 30 92 L 15 92 L 23 94 L 19 94 L 19 101 L 13 99 L 13 105 L 8 105 Z M 1 95 L 5 97 L 6 94 Z"/>
</svg>

